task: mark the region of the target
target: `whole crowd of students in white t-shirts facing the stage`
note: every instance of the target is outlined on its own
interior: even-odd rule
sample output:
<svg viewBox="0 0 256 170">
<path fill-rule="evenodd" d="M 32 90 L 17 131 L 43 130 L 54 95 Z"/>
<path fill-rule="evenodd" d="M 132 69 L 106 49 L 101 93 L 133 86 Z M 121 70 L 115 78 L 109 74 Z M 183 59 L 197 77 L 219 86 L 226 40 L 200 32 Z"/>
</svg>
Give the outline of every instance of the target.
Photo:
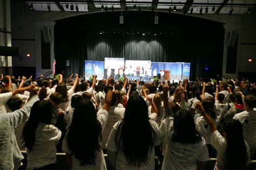
<svg viewBox="0 0 256 170">
<path fill-rule="evenodd" d="M 71 76 L 72 77 L 72 76 Z M 0 77 L 0 169 L 246 169 L 256 151 L 249 81 L 38 80 Z"/>
</svg>

